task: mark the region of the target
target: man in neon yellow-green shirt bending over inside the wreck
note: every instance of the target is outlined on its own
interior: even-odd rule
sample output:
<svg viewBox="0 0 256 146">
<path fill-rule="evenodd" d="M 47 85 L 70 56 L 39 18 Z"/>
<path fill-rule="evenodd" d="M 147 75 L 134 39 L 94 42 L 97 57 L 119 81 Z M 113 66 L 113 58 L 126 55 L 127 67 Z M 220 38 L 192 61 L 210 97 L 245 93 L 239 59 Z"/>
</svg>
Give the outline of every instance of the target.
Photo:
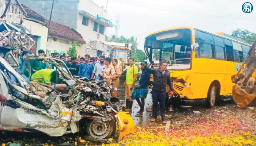
<svg viewBox="0 0 256 146">
<path fill-rule="evenodd" d="M 31 81 L 37 81 L 37 82 L 42 82 L 44 84 L 49 85 L 49 88 L 54 88 L 57 91 L 60 92 L 65 92 L 65 90 L 67 89 L 67 85 L 65 84 L 53 84 L 51 83 L 51 80 L 56 79 L 56 70 L 54 69 L 42 69 L 39 70 L 37 72 L 35 72 L 32 76 L 31 76 Z M 59 76 L 59 74 L 58 74 Z"/>
</svg>

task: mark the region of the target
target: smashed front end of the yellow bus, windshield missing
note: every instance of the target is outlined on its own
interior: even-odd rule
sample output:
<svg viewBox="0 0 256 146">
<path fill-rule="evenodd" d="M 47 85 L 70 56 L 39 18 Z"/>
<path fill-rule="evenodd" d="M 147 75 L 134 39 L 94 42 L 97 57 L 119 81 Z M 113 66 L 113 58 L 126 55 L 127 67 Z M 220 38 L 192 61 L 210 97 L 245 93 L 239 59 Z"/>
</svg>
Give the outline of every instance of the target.
<svg viewBox="0 0 256 146">
<path fill-rule="evenodd" d="M 192 99 L 191 73 L 192 28 L 172 28 L 148 35 L 145 41 L 145 52 L 150 63 L 158 59 L 167 62 L 175 91 L 182 97 Z M 158 63 L 157 63 L 158 64 Z"/>
</svg>

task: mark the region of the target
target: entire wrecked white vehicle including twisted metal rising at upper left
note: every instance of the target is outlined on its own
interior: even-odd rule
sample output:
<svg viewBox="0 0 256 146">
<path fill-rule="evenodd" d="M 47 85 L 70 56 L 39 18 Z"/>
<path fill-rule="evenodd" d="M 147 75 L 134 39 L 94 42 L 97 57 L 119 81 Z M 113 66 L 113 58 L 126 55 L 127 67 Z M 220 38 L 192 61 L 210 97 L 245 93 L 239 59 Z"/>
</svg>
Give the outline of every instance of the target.
<svg viewBox="0 0 256 146">
<path fill-rule="evenodd" d="M 22 5 L 15 1 L 19 6 L 17 13 L 20 10 L 20 14 L 26 16 Z M 26 30 L 29 30 L 24 26 L 3 19 L 10 3 L 11 0 L 1 3 L 4 9 L 0 20 L 0 93 L 7 98 L 7 106 L 0 106 L 0 130 L 43 132 L 56 137 L 81 132 L 94 139 L 103 139 L 116 131 L 117 123 L 121 130 L 119 139 L 135 132 L 131 116 L 118 112 L 118 107 L 108 102 L 110 87 L 103 82 L 100 85 L 75 80 L 63 61 L 31 54 L 23 56 L 22 70 L 19 70 L 18 62 L 8 53 L 12 50 L 14 54 L 16 51 L 19 57 L 20 50 L 30 50 L 35 42 L 26 34 Z M 31 77 L 30 61 L 33 59 L 41 59 L 55 66 L 60 74 L 56 73 L 57 79 L 52 82 L 66 84 L 68 88 L 65 93 L 41 83 L 38 83 L 38 88 L 29 86 L 29 80 L 26 81 L 25 77 Z M 36 95 L 34 88 L 37 91 L 39 88 L 46 89 L 46 96 L 42 98 Z"/>
</svg>

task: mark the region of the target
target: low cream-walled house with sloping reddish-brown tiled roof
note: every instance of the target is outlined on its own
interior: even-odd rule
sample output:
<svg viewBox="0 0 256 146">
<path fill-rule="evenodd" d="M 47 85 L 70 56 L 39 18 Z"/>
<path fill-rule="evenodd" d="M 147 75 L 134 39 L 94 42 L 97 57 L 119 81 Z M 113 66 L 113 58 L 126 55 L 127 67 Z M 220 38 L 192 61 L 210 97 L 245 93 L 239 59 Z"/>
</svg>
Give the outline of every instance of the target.
<svg viewBox="0 0 256 146">
<path fill-rule="evenodd" d="M 84 52 L 86 42 L 76 30 L 53 21 L 50 22 L 49 26 L 49 20 L 44 19 L 26 5 L 22 4 L 22 6 L 27 12 L 27 16 L 23 16 L 22 25 L 33 34 L 31 38 L 36 42 L 31 49 L 33 54 L 36 54 L 39 49 L 67 53 L 74 41 L 78 43 L 78 53 Z M 29 34 L 29 31 L 26 33 Z"/>
</svg>

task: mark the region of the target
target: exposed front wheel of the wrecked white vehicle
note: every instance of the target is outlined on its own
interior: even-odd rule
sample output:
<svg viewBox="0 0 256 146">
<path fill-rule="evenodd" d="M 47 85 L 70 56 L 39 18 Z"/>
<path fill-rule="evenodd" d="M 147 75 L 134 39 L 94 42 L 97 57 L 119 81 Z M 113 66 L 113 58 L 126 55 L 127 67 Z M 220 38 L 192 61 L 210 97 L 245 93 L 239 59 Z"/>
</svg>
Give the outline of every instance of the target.
<svg viewBox="0 0 256 146">
<path fill-rule="evenodd" d="M 81 125 L 83 135 L 88 135 L 97 139 L 110 138 L 116 131 L 116 121 L 112 120 L 102 122 L 101 119 L 83 122 Z"/>
</svg>

